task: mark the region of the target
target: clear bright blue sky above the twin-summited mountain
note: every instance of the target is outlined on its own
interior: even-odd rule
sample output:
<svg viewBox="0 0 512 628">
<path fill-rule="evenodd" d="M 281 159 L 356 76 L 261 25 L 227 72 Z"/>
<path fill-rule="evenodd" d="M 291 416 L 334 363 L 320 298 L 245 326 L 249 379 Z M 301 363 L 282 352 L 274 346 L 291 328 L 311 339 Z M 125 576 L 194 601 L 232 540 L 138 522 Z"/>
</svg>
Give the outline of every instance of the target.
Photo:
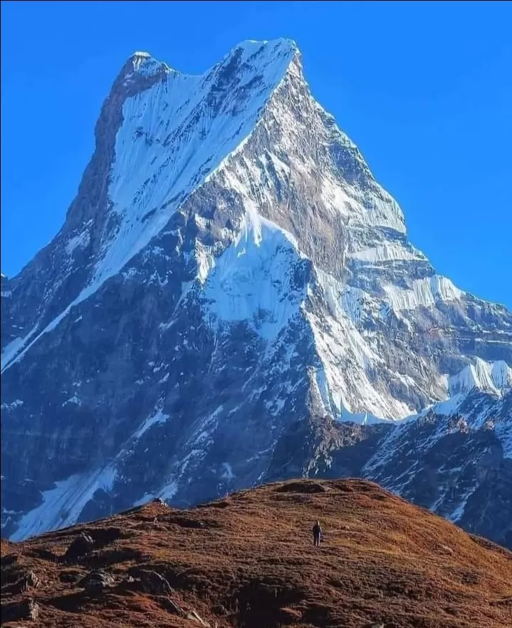
<svg viewBox="0 0 512 628">
<path fill-rule="evenodd" d="M 506 1 L 2 1 L 1 268 L 61 227 L 132 52 L 200 73 L 243 39 L 286 36 L 412 242 L 512 308 L 511 24 Z"/>
</svg>

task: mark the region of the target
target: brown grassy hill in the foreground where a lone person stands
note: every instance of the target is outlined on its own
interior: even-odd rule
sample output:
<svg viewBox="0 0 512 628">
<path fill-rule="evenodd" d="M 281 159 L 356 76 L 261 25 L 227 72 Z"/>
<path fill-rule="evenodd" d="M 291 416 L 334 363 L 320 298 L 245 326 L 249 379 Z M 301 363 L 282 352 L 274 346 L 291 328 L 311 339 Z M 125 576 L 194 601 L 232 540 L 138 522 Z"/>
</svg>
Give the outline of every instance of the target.
<svg viewBox="0 0 512 628">
<path fill-rule="evenodd" d="M 192 510 L 152 502 L 2 541 L 1 555 L 4 618 L 33 599 L 23 609 L 41 627 L 512 627 L 511 552 L 362 480 L 272 484 Z M 100 569 L 113 581 L 84 590 Z"/>
</svg>

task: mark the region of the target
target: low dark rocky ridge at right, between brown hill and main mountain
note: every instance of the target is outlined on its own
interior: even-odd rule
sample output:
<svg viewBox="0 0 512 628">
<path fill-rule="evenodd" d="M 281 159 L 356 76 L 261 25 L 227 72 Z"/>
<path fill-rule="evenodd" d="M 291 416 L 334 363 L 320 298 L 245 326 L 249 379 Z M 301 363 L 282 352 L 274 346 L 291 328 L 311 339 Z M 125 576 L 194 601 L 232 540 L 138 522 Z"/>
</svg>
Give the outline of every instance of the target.
<svg viewBox="0 0 512 628">
<path fill-rule="evenodd" d="M 473 389 L 397 425 L 298 421 L 281 436 L 264 480 L 368 478 L 512 548 L 511 416 L 512 392 Z"/>
</svg>

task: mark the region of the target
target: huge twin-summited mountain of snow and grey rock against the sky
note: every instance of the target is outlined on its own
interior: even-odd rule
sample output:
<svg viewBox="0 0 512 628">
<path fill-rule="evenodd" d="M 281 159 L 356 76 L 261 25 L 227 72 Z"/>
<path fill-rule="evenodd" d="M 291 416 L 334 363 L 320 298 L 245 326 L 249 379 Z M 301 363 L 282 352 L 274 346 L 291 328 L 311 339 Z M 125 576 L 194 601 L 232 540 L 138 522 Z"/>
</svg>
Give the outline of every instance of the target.
<svg viewBox="0 0 512 628">
<path fill-rule="evenodd" d="M 2 279 L 4 535 L 253 485 L 311 416 L 387 421 L 352 473 L 393 421 L 510 386 L 511 313 L 409 243 L 293 42 L 194 77 L 136 53 L 95 136 L 61 232 Z"/>
</svg>

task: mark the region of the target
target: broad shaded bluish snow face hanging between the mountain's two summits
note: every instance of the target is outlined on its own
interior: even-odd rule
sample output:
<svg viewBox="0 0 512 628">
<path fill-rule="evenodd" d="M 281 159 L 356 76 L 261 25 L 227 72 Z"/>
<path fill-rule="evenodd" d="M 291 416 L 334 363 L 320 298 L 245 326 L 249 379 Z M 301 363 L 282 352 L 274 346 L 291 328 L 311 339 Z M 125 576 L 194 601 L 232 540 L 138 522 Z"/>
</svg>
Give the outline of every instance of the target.
<svg viewBox="0 0 512 628">
<path fill-rule="evenodd" d="M 166 81 L 125 99 L 109 187 L 120 222 L 104 242 L 95 282 L 118 272 L 252 133 L 295 55 L 286 40 L 246 41 L 202 76 L 165 66 Z M 134 63 L 152 71 L 158 62 Z"/>
</svg>

